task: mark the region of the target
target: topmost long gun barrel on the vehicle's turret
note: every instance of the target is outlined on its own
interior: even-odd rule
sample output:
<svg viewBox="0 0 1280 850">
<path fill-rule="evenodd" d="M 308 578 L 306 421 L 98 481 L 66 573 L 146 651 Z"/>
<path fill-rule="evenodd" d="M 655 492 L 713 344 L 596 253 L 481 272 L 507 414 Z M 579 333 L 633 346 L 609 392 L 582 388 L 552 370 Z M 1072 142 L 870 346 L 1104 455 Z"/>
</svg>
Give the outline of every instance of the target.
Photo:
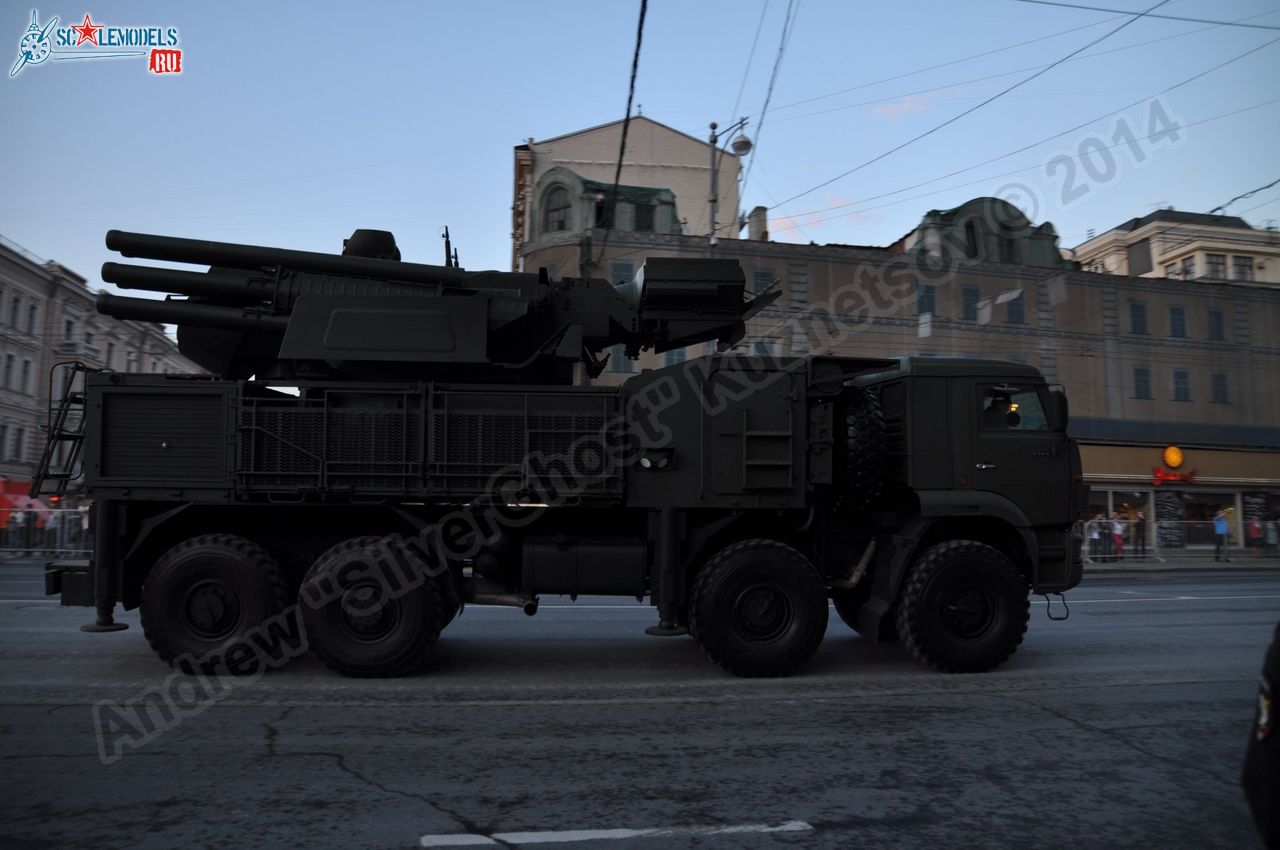
<svg viewBox="0 0 1280 850">
<path fill-rule="evenodd" d="M 376 257 L 353 257 L 316 251 L 268 248 L 256 245 L 211 242 L 209 239 L 183 239 L 172 236 L 108 230 L 106 247 L 127 257 L 146 257 L 169 262 L 227 266 L 233 269 L 262 269 L 283 266 L 298 271 L 342 274 L 381 280 L 404 280 L 445 285 L 466 285 L 467 273 L 462 269 L 433 266 L 422 262 L 399 262 Z"/>
</svg>

